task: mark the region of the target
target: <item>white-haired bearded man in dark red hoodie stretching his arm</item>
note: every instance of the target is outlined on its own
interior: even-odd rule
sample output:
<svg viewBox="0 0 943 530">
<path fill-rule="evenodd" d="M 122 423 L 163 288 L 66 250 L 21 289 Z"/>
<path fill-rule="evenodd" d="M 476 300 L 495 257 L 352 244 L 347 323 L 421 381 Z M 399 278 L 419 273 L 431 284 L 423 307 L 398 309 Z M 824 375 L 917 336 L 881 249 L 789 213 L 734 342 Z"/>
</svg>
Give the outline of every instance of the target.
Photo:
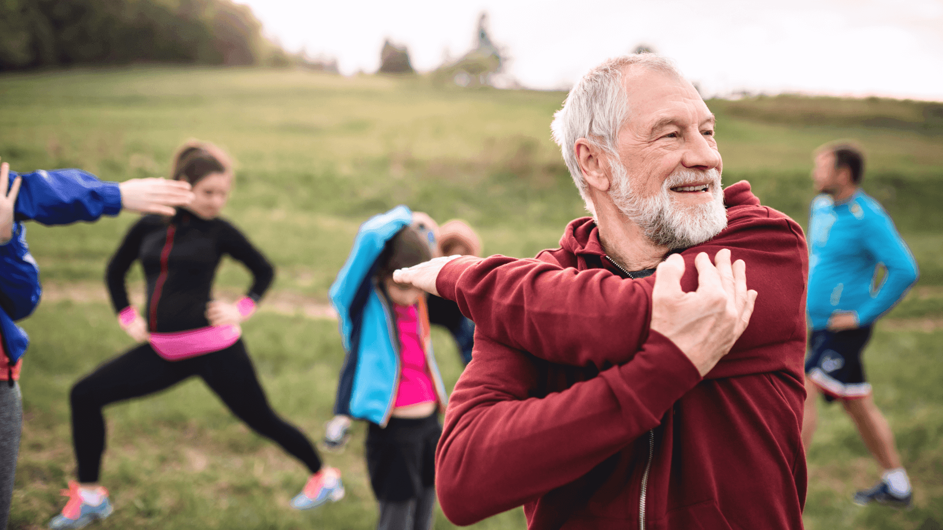
<svg viewBox="0 0 943 530">
<path fill-rule="evenodd" d="M 553 131 L 592 213 L 559 248 L 394 274 L 476 324 L 438 444 L 443 511 L 801 528 L 802 229 L 746 182 L 721 190 L 714 116 L 666 58 L 605 61 Z"/>
</svg>

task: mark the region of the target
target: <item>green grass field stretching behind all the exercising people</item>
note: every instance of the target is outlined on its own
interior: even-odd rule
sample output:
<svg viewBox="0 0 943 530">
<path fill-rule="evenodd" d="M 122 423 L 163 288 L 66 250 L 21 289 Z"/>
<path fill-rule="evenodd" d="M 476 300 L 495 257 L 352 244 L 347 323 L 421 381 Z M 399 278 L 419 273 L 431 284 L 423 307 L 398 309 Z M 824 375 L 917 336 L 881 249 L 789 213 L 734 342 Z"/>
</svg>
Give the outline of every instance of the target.
<svg viewBox="0 0 943 530">
<path fill-rule="evenodd" d="M 564 225 L 582 215 L 549 139 L 564 96 L 279 70 L 2 75 L 0 157 L 17 171 L 79 167 L 124 180 L 166 174 L 175 147 L 191 137 L 228 149 L 239 170 L 224 215 L 278 267 L 270 300 L 287 301 L 277 312 L 263 304 L 244 337 L 273 406 L 318 439 L 343 351 L 336 323 L 309 318 L 304 307 L 326 302 L 357 225 L 405 203 L 440 222 L 466 219 L 488 254 L 529 257 L 555 246 Z M 830 406 L 808 455 L 805 522 L 812 530 L 930 528 L 924 523 L 932 518 L 943 522 L 943 369 L 936 362 L 943 355 L 943 136 L 934 127 L 888 126 L 918 120 L 913 103 L 869 102 L 867 119 L 855 119 L 858 103 L 835 102 L 708 105 L 718 115 L 725 183 L 750 180 L 765 204 L 803 226 L 814 195 L 811 151 L 836 138 L 868 150 L 865 188 L 890 211 L 921 271 L 918 288 L 878 326 L 866 354 L 917 507 L 902 513 L 850 503 L 876 469 L 852 423 Z M 790 118 L 808 108 L 814 120 Z M 125 214 L 98 224 L 29 227 L 49 296 L 25 321 L 33 342 L 22 379 L 26 422 L 12 528 L 38 528 L 62 506 L 58 489 L 74 473 L 68 391 L 131 345 L 104 302 L 101 278 L 134 220 Z M 131 282 L 140 278 L 136 270 Z M 227 262 L 218 285 L 229 294 L 247 281 Z M 461 371 L 455 348 L 444 333 L 434 341 L 451 388 Z M 101 528 L 366 529 L 375 522 L 362 424 L 345 453 L 325 455 L 344 472 L 348 498 L 312 513 L 288 507 L 304 483 L 303 468 L 249 433 L 197 381 L 110 407 L 108 427 L 102 480 L 117 510 Z M 523 526 L 520 509 L 476 525 Z M 451 527 L 439 513 L 436 528 Z"/>
</svg>

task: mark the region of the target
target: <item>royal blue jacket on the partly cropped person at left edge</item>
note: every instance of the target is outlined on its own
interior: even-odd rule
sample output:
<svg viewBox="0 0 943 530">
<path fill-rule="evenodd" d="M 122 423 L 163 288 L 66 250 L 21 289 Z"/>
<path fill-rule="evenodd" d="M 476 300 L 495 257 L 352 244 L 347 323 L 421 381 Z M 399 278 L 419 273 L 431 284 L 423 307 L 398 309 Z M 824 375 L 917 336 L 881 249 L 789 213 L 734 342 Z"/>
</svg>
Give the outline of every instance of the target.
<svg viewBox="0 0 943 530">
<path fill-rule="evenodd" d="M 19 175 L 9 172 L 9 185 Z M 70 224 L 118 215 L 121 190 L 80 170 L 37 171 L 23 174 L 14 208 L 13 238 L 0 246 L 0 333 L 10 364 L 26 351 L 29 338 L 14 321 L 29 316 L 40 303 L 40 270 L 26 245 L 23 221 Z"/>
</svg>

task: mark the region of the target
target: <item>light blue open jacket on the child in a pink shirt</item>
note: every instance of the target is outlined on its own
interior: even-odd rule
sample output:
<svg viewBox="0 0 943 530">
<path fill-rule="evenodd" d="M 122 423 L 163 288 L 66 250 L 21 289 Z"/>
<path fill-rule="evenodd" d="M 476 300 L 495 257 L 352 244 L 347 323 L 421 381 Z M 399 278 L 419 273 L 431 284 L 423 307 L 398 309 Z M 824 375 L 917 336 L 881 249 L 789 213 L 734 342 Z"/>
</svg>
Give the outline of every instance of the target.
<svg viewBox="0 0 943 530">
<path fill-rule="evenodd" d="M 412 223 L 412 212 L 399 206 L 360 225 L 350 257 L 331 286 L 340 336 L 347 355 L 340 371 L 335 414 L 386 427 L 396 400 L 400 375 L 400 341 L 389 303 L 373 279 L 376 259 L 387 241 Z M 421 320 L 421 325 L 422 320 Z M 427 335 L 428 319 L 424 319 Z M 446 404 L 432 343 L 424 344 L 426 364 L 436 387 L 440 410 Z"/>
</svg>

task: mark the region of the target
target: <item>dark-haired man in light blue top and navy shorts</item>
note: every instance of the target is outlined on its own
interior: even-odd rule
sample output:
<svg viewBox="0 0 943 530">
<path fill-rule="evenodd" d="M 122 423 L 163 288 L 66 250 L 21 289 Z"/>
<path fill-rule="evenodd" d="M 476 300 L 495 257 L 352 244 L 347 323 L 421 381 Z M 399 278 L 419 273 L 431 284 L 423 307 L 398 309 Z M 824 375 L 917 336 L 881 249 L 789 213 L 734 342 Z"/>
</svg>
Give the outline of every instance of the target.
<svg viewBox="0 0 943 530">
<path fill-rule="evenodd" d="M 874 322 L 917 281 L 917 262 L 877 201 L 861 190 L 864 155 L 850 143 L 827 144 L 816 153 L 813 179 L 822 193 L 809 220 L 809 283 L 806 300 L 809 353 L 805 359 L 802 443 L 815 433 L 816 398 L 837 399 L 852 417 L 871 455 L 884 470 L 874 488 L 854 502 L 907 507 L 910 480 L 894 435 L 871 399 L 861 352 Z M 884 277 L 877 282 L 883 265 Z"/>
</svg>

